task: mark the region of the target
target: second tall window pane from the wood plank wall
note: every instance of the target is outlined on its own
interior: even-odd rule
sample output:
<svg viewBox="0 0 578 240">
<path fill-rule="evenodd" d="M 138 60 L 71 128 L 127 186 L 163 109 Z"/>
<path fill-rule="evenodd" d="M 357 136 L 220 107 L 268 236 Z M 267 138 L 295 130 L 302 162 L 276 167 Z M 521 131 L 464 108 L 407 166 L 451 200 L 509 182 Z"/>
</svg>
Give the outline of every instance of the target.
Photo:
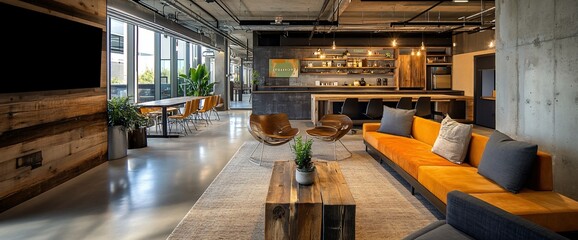
<svg viewBox="0 0 578 240">
<path fill-rule="evenodd" d="M 137 101 L 155 99 L 155 33 L 138 28 L 137 35 Z"/>
</svg>

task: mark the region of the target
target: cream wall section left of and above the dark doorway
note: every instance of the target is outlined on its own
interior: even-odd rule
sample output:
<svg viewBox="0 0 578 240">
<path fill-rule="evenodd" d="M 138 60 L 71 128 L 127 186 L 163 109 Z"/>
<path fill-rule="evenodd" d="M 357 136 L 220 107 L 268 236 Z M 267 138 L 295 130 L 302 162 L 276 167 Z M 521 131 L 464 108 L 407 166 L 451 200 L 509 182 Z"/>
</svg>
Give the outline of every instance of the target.
<svg viewBox="0 0 578 240">
<path fill-rule="evenodd" d="M 474 57 L 495 52 L 495 49 L 488 49 L 453 55 L 452 89 L 464 91 L 466 96 L 474 96 Z"/>
</svg>

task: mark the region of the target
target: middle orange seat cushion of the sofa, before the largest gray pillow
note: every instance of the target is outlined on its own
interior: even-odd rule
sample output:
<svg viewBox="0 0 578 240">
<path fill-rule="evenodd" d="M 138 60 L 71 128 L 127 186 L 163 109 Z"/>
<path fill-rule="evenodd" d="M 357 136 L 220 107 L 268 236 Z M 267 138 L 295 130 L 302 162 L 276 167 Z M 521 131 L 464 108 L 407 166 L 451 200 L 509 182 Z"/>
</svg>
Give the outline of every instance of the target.
<svg viewBox="0 0 578 240">
<path fill-rule="evenodd" d="M 422 166 L 418 181 L 442 202 L 451 190 L 465 193 L 506 192 L 498 184 L 478 174 L 475 167 Z"/>
</svg>

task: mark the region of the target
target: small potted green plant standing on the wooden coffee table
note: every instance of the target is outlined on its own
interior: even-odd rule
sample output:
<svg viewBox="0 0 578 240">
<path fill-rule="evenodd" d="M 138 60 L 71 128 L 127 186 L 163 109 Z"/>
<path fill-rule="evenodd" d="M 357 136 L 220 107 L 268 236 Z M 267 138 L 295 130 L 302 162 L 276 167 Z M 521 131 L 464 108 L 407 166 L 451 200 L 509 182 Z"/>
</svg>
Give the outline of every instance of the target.
<svg viewBox="0 0 578 240">
<path fill-rule="evenodd" d="M 295 144 L 291 145 L 291 150 L 295 154 L 295 179 L 299 184 L 310 185 L 315 176 L 315 165 L 311 161 L 311 145 L 313 139 L 303 140 L 302 136 L 295 138 Z"/>
</svg>

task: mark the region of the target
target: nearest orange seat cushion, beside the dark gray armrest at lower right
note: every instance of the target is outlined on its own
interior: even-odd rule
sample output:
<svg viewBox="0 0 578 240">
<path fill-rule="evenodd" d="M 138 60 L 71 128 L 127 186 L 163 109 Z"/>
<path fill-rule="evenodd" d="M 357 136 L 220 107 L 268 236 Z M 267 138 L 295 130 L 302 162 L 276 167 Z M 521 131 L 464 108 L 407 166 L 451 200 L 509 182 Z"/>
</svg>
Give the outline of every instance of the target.
<svg viewBox="0 0 578 240">
<path fill-rule="evenodd" d="M 472 194 L 555 232 L 578 229 L 578 202 L 552 191 Z"/>
</svg>

